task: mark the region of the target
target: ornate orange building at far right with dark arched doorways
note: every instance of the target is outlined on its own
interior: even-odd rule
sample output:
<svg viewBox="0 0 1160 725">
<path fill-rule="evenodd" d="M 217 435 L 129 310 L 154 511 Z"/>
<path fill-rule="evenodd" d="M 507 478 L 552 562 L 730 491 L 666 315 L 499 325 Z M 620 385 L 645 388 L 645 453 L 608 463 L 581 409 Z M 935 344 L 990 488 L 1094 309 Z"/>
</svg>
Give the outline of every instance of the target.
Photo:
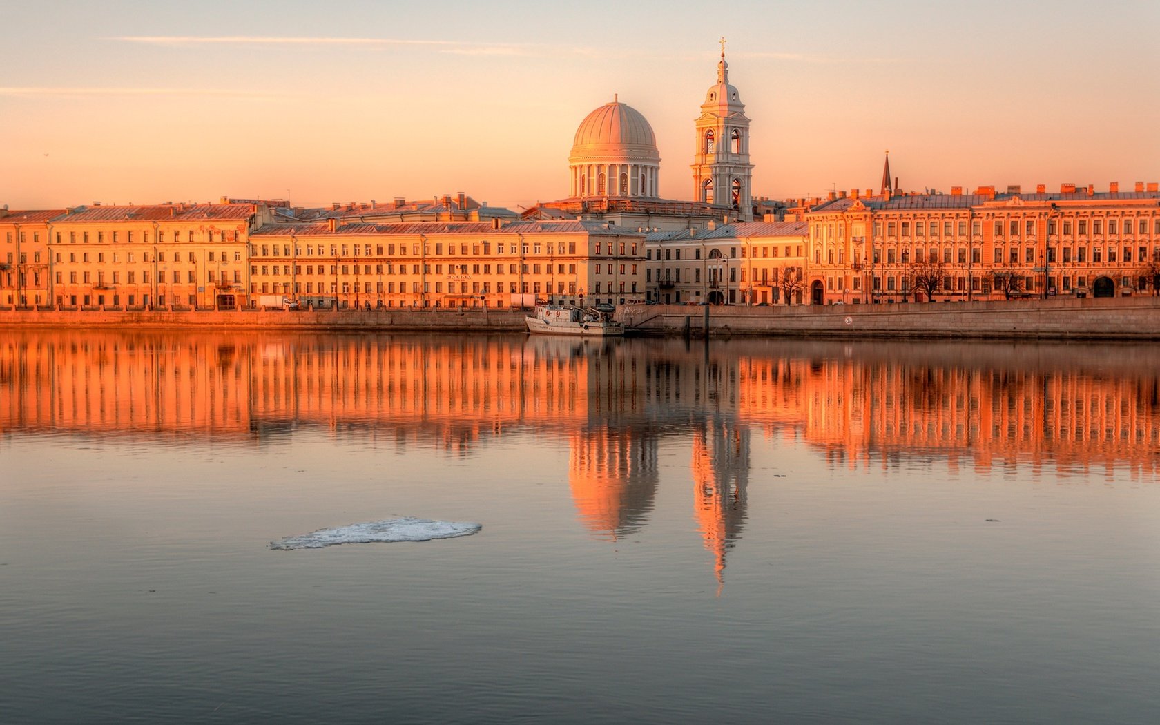
<svg viewBox="0 0 1160 725">
<path fill-rule="evenodd" d="M 1155 183 L 855 189 L 831 194 L 805 219 L 812 304 L 1128 296 L 1155 291 L 1160 273 Z"/>
</svg>

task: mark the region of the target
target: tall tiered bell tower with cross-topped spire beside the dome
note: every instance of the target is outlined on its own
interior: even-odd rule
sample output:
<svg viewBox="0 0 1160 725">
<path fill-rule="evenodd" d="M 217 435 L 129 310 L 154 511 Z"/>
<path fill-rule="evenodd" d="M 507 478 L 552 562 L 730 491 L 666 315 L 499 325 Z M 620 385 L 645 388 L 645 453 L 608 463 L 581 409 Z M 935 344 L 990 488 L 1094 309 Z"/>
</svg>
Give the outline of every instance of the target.
<svg viewBox="0 0 1160 725">
<path fill-rule="evenodd" d="M 738 219 L 753 220 L 753 164 L 749 162 L 749 119 L 737 88 L 728 82 L 725 38 L 717 64 L 717 84 L 709 87 L 696 121 L 693 198 L 733 209 Z"/>
</svg>

